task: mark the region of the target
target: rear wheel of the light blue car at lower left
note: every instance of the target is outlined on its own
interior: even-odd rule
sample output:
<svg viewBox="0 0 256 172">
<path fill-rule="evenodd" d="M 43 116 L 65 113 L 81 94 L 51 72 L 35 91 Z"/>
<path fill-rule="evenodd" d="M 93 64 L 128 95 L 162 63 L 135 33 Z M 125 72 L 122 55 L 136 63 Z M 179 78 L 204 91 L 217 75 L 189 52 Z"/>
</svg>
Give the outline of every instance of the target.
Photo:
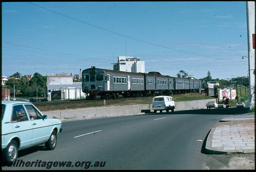
<svg viewBox="0 0 256 172">
<path fill-rule="evenodd" d="M 14 162 L 18 158 L 18 145 L 15 140 L 12 140 L 4 149 L 4 158 L 7 162 Z"/>
</svg>

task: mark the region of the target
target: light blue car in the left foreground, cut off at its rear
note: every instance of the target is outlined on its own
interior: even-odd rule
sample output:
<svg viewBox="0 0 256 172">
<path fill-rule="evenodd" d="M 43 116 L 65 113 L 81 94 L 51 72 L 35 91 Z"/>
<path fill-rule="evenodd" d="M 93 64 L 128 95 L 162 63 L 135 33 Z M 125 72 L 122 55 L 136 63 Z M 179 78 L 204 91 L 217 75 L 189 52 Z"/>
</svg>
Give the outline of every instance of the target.
<svg viewBox="0 0 256 172">
<path fill-rule="evenodd" d="M 18 158 L 18 151 L 45 144 L 53 150 L 62 131 L 59 119 L 47 119 L 31 102 L 2 101 L 1 149 L 7 162 Z"/>
</svg>

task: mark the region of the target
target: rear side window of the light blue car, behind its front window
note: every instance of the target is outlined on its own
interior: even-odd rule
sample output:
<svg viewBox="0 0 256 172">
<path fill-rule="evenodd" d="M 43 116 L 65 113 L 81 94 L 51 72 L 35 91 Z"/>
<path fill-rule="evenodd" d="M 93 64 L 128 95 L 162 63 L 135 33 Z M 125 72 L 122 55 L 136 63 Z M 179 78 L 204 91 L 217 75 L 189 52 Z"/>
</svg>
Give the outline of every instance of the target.
<svg viewBox="0 0 256 172">
<path fill-rule="evenodd" d="M 28 121 L 28 116 L 22 105 L 13 106 L 12 123 Z"/>
</svg>

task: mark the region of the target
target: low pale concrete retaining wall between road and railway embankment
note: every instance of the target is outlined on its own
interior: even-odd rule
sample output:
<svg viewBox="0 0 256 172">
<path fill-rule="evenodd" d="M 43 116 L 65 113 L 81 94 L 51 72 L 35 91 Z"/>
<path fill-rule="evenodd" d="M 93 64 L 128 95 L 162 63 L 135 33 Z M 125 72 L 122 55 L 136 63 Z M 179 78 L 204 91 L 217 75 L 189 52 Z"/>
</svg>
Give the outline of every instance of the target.
<svg viewBox="0 0 256 172">
<path fill-rule="evenodd" d="M 179 101 L 175 102 L 177 110 L 201 109 L 206 108 L 208 101 L 215 101 L 215 99 L 197 100 L 197 101 Z M 48 118 L 82 118 L 82 117 L 104 117 L 115 116 L 124 114 L 136 113 L 150 113 L 153 112 L 152 104 L 148 105 L 131 105 L 131 106 L 115 106 L 115 107 L 102 107 L 102 108 L 83 108 L 75 110 L 60 110 L 43 112 Z"/>
</svg>

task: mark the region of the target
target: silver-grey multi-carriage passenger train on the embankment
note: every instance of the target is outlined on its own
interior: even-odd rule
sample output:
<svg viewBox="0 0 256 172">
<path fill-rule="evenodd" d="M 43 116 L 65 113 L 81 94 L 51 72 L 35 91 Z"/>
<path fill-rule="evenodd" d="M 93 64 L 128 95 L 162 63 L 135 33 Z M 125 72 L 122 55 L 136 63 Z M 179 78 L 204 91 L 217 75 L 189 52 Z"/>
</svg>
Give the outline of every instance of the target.
<svg viewBox="0 0 256 172">
<path fill-rule="evenodd" d="M 199 92 L 202 81 L 164 76 L 157 72 L 134 73 L 89 68 L 82 71 L 82 89 L 91 99 Z"/>
</svg>

